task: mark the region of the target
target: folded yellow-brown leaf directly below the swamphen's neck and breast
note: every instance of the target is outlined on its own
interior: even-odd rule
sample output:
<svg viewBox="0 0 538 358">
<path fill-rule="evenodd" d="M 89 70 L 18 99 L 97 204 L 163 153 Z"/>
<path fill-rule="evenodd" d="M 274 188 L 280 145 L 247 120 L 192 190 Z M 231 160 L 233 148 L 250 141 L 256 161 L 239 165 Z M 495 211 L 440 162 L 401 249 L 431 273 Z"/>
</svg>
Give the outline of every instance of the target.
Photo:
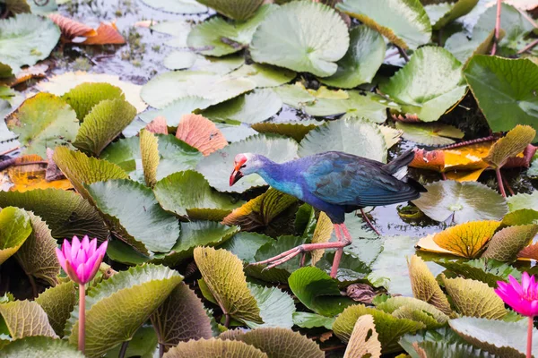
<svg viewBox="0 0 538 358">
<path fill-rule="evenodd" d="M 222 219 L 222 224 L 241 226 L 243 230 L 252 230 L 259 226 L 267 226 L 274 217 L 288 209 L 297 199 L 273 188 L 262 195 L 247 201 L 230 215 Z"/>
</svg>

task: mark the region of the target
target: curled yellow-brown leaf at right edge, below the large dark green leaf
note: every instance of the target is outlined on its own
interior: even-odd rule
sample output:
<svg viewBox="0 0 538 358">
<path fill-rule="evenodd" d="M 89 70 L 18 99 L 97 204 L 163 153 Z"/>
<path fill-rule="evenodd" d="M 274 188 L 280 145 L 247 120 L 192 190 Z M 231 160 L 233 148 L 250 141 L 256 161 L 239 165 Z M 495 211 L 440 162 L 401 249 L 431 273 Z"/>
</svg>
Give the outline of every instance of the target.
<svg viewBox="0 0 538 358">
<path fill-rule="evenodd" d="M 536 135 L 530 125 L 517 124 L 506 136 L 495 142 L 484 161 L 495 168 L 504 166 L 508 158 L 515 157 L 529 145 Z"/>
</svg>

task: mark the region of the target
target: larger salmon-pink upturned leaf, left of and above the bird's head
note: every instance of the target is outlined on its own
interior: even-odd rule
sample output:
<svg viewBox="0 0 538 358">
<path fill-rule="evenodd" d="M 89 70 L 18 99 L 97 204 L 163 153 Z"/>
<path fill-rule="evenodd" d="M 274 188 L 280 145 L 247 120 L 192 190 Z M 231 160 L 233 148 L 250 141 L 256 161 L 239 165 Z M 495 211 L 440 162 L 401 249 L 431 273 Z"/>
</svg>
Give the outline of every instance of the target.
<svg viewBox="0 0 538 358">
<path fill-rule="evenodd" d="M 176 137 L 200 150 L 204 156 L 228 145 L 222 132 L 203 115 L 183 115 L 179 120 Z"/>
</svg>

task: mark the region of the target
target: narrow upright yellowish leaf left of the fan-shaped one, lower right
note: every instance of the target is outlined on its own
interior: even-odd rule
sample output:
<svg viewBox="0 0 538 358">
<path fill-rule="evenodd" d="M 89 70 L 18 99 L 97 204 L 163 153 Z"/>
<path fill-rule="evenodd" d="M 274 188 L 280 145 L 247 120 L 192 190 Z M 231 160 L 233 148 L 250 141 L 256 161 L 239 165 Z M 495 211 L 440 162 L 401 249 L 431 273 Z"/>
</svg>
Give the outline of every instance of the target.
<svg viewBox="0 0 538 358">
<path fill-rule="evenodd" d="M 447 296 L 443 294 L 426 263 L 417 255 L 412 255 L 407 265 L 411 278 L 412 294 L 415 298 L 430 303 L 448 316 L 452 315 Z"/>
</svg>

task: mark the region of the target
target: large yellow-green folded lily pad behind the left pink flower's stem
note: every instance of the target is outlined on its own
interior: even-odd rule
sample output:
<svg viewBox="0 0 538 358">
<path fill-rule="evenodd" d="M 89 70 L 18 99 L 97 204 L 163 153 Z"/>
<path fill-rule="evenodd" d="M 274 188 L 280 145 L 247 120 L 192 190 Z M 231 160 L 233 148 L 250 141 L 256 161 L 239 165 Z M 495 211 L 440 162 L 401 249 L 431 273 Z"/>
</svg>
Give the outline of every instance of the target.
<svg viewBox="0 0 538 358">
<path fill-rule="evenodd" d="M 131 339 L 182 279 L 172 269 L 144 265 L 120 271 L 93 287 L 86 296 L 85 354 L 99 357 Z M 71 344 L 78 341 L 78 313 L 77 306 L 65 328 Z M 112 316 L 116 320 L 108 320 Z"/>
</svg>

